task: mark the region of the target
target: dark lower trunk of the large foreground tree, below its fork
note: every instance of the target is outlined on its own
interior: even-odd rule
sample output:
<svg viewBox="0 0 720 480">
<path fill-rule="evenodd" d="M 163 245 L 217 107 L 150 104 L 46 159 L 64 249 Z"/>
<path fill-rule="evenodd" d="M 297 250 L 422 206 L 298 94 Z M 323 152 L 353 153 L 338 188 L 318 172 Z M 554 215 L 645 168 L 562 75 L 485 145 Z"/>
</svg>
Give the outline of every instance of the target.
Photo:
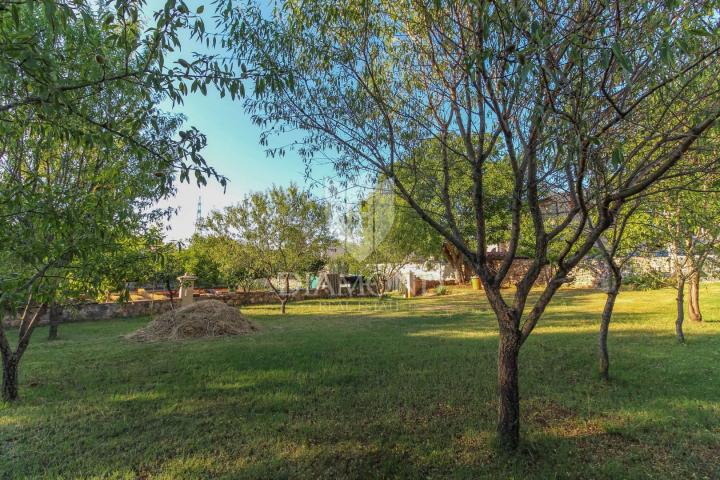
<svg viewBox="0 0 720 480">
<path fill-rule="evenodd" d="M 498 347 L 498 441 L 500 448 L 515 450 L 520 441 L 520 389 L 518 356 L 520 332 L 516 328 L 500 328 Z"/>
</svg>

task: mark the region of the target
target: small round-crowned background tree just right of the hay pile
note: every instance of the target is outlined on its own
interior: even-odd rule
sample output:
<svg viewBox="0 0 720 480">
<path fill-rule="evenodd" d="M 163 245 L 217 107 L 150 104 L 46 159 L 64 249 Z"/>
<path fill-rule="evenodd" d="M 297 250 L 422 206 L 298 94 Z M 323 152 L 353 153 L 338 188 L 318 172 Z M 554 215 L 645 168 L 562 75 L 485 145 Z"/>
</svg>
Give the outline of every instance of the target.
<svg viewBox="0 0 720 480">
<path fill-rule="evenodd" d="M 319 271 L 330 245 L 327 208 L 296 185 L 253 193 L 237 205 L 212 212 L 207 228 L 244 247 L 253 270 L 261 273 L 280 301 L 283 314 L 293 296 L 291 278 Z"/>
</svg>

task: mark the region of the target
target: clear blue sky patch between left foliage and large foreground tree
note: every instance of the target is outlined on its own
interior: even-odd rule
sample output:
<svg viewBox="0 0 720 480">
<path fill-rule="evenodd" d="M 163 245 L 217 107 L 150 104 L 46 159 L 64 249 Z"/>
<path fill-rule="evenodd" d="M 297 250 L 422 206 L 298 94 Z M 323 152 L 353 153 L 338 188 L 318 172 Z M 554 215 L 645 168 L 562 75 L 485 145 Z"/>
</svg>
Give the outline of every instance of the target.
<svg viewBox="0 0 720 480">
<path fill-rule="evenodd" d="M 164 0 L 151 0 L 146 11 L 152 12 L 163 4 Z M 212 5 L 209 2 L 188 2 L 191 8 L 201 4 L 206 6 L 206 25 L 212 25 Z M 190 58 L 198 46 L 189 42 L 187 37 L 183 40 L 184 48 L 179 57 Z M 249 93 L 252 88 L 246 86 L 246 90 Z M 208 146 L 203 155 L 210 165 L 229 179 L 224 193 L 222 187 L 212 181 L 203 188 L 198 188 L 194 183 L 178 184 L 175 197 L 161 204 L 179 208 L 179 213 L 169 222 L 169 240 L 192 235 L 200 197 L 203 214 L 207 214 L 212 209 L 239 201 L 251 191 L 264 190 L 273 184 L 287 186 L 295 182 L 310 187 L 310 182 L 305 178 L 305 165 L 294 152 L 287 151 L 284 157 L 276 158 L 265 154 L 264 147 L 259 143 L 261 130 L 253 125 L 250 116 L 243 111 L 241 101 L 232 101 L 229 96 L 220 98 L 216 92 L 209 90 L 207 96 L 199 92 L 190 94 L 183 105 L 173 106 L 168 102 L 163 103 L 161 108 L 184 114 L 187 117 L 186 127 L 195 126 L 207 135 Z M 330 173 L 327 167 L 314 169 L 313 177 L 321 178 Z M 314 192 L 324 194 L 317 188 Z"/>
</svg>

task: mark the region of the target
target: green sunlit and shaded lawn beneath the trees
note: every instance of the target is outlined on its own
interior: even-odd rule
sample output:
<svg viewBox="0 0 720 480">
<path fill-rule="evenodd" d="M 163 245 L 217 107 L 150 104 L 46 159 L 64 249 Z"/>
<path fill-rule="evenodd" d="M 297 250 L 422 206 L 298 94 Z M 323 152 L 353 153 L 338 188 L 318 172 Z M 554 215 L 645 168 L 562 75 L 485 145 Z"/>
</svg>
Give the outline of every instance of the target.
<svg viewBox="0 0 720 480">
<path fill-rule="evenodd" d="M 134 344 L 147 319 L 39 329 L 0 478 L 720 478 L 720 285 L 673 332 L 672 291 L 566 290 L 521 353 L 520 452 L 493 448 L 496 324 L 469 291 L 243 312 L 252 336 Z"/>
</svg>

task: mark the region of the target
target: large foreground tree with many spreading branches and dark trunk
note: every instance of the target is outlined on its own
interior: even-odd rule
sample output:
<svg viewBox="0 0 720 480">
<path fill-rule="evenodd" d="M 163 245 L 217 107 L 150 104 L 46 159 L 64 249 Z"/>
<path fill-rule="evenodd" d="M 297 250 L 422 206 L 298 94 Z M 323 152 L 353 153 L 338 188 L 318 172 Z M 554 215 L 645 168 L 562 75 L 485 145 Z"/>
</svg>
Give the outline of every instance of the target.
<svg viewBox="0 0 720 480">
<path fill-rule="evenodd" d="M 252 64 L 292 72 L 288 85 L 247 100 L 266 128 L 264 142 L 300 130 L 298 151 L 308 161 L 330 157 L 356 181 L 390 179 L 473 266 L 498 321 L 505 449 L 519 441 L 520 348 L 555 292 L 623 204 L 671 175 L 720 116 L 717 6 L 287 0 L 254 23 L 251 41 L 231 42 Z M 636 147 L 625 149 L 630 133 Z M 449 141 L 455 135 L 460 148 Z M 413 152 L 429 139 L 440 155 L 419 165 Z M 486 214 L 487 171 L 498 156 L 512 172 L 499 265 L 487 255 Z M 457 176 L 471 185 L 467 216 L 449 188 Z M 439 209 L 422 203 L 426 191 Z M 553 203 L 562 208 L 550 215 Z M 465 218 L 470 234 L 461 229 Z M 532 262 L 506 296 L 500 287 L 522 241 L 532 245 Z M 527 305 L 551 251 L 555 270 Z"/>
</svg>

